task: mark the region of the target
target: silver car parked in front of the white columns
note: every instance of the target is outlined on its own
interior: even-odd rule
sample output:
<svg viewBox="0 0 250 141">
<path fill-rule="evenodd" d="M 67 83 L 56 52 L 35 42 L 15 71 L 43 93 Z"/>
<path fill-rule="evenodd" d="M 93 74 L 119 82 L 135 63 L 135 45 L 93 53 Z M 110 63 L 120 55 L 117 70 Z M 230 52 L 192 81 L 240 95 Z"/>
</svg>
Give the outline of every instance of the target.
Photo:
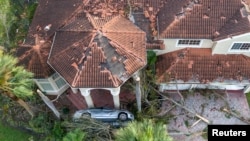
<svg viewBox="0 0 250 141">
<path fill-rule="evenodd" d="M 134 115 L 127 110 L 117 110 L 110 108 L 90 108 L 78 110 L 73 115 L 73 120 L 80 119 L 81 117 L 91 117 L 101 121 L 128 121 L 134 120 Z"/>
</svg>

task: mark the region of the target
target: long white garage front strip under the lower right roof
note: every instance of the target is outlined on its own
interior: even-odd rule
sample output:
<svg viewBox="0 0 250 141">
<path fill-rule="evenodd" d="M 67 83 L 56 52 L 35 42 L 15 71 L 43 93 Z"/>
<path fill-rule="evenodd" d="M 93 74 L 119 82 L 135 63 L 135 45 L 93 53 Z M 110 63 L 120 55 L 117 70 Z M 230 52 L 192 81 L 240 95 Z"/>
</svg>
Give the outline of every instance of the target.
<svg viewBox="0 0 250 141">
<path fill-rule="evenodd" d="M 184 81 L 177 81 L 177 84 L 175 82 L 169 82 L 169 83 L 161 83 L 159 84 L 159 90 L 161 92 L 165 90 L 190 90 L 190 89 L 223 89 L 223 90 L 242 90 L 245 88 L 248 88 L 250 86 L 249 81 L 244 82 L 236 82 L 236 81 L 225 81 L 225 82 L 219 82 L 214 81 L 209 84 L 202 84 L 200 82 L 184 82 Z M 245 92 L 247 90 L 245 89 Z"/>
</svg>

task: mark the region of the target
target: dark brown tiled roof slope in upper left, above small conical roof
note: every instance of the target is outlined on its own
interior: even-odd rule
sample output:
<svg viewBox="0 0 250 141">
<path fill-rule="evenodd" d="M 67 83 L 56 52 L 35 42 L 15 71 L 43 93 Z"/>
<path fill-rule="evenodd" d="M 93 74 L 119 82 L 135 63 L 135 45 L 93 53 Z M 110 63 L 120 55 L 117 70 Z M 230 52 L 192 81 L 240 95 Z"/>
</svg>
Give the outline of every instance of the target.
<svg viewBox="0 0 250 141">
<path fill-rule="evenodd" d="M 32 36 L 35 34 L 44 34 L 44 28 L 47 25 L 51 25 L 50 30 L 47 31 L 47 35 L 50 36 L 54 34 L 64 20 L 70 17 L 82 3 L 81 1 L 82 0 L 39 0 L 29 28 L 26 44 L 29 44 L 29 40 L 32 40 Z"/>
</svg>

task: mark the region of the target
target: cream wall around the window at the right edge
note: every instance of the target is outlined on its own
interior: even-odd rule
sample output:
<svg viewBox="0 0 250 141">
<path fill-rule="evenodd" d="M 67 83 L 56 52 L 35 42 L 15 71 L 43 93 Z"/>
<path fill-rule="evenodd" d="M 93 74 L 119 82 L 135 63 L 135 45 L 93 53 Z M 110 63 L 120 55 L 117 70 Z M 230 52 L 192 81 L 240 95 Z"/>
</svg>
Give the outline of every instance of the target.
<svg viewBox="0 0 250 141">
<path fill-rule="evenodd" d="M 244 54 L 250 57 L 249 51 L 230 51 L 233 43 L 250 43 L 250 33 L 217 41 L 212 49 L 212 54 Z"/>
</svg>

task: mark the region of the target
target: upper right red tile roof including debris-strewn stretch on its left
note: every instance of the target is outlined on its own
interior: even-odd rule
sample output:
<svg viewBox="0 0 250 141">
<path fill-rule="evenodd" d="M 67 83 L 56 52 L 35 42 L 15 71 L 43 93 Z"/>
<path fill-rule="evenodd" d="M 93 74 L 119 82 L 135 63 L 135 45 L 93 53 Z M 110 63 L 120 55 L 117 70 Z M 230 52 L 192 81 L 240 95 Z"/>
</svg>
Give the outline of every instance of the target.
<svg viewBox="0 0 250 141">
<path fill-rule="evenodd" d="M 147 41 L 220 40 L 250 32 L 249 0 L 131 0 L 134 22 Z M 233 27 L 233 28 L 232 28 Z"/>
</svg>

